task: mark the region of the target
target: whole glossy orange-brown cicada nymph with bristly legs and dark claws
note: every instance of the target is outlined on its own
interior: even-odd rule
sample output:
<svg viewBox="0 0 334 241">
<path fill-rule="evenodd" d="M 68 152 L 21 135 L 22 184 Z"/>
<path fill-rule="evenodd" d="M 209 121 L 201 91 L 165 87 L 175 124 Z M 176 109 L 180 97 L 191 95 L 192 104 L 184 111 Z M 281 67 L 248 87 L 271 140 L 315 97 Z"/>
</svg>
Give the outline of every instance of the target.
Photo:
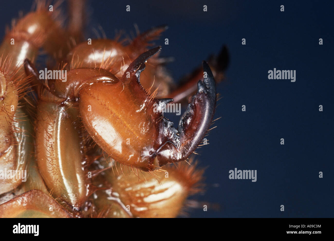
<svg viewBox="0 0 334 241">
<path fill-rule="evenodd" d="M 0 216 L 178 216 L 203 191 L 187 159 L 211 125 L 226 48 L 176 85 L 151 47 L 166 26 L 88 44 L 83 6 L 69 3 L 65 25 L 57 4 L 37 1 L 0 46 L 0 170 L 26 171 L 0 180 L 1 203 L 11 198 Z M 48 70 L 36 68 L 40 50 Z M 160 109 L 189 99 L 174 127 Z"/>
</svg>

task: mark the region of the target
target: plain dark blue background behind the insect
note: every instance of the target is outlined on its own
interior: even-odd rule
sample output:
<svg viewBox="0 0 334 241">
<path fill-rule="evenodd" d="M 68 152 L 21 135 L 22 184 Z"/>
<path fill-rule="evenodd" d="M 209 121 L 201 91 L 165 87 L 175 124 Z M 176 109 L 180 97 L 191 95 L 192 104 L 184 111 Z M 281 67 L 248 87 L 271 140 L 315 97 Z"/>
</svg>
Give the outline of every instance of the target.
<svg viewBox="0 0 334 241">
<path fill-rule="evenodd" d="M 1 4 L 3 27 L 31 6 L 30 1 Z M 230 65 L 217 89 L 222 99 L 215 118 L 222 118 L 210 132 L 210 144 L 197 151 L 207 167 L 207 191 L 193 198 L 219 203 L 220 210 L 192 210 L 191 217 L 334 217 L 332 5 L 129 0 L 91 1 L 89 6 L 89 27 L 100 24 L 108 38 L 115 29 L 135 32 L 135 23 L 141 31 L 168 24 L 155 43 L 163 46 L 162 56 L 175 57 L 168 68 L 176 80 L 222 44 L 228 46 Z M 274 68 L 296 70 L 296 82 L 268 80 Z M 257 170 L 257 182 L 230 180 L 228 171 L 235 167 Z"/>
</svg>

